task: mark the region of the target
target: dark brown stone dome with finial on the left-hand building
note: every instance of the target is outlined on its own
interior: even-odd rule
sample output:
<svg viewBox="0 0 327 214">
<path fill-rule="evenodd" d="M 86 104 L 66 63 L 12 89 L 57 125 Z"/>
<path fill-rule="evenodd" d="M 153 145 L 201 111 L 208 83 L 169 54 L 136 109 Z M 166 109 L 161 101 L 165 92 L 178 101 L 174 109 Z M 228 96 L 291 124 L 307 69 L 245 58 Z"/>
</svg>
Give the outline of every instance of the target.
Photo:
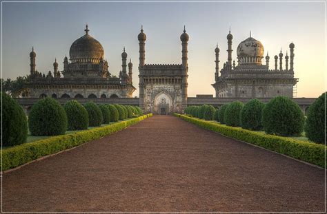
<svg viewBox="0 0 327 214">
<path fill-rule="evenodd" d="M 69 56 L 72 63 L 99 63 L 104 57 L 104 51 L 101 43 L 88 34 L 86 25 L 86 34 L 77 39 L 70 46 Z"/>
</svg>

